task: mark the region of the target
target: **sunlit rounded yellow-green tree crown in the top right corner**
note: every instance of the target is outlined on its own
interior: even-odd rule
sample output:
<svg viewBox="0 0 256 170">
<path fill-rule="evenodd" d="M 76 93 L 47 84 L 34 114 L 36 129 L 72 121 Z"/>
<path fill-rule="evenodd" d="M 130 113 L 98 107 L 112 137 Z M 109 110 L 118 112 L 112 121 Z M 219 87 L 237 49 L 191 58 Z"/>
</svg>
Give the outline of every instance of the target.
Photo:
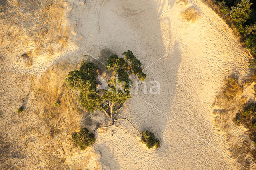
<svg viewBox="0 0 256 170">
<path fill-rule="evenodd" d="M 247 0 L 242 0 L 240 3 L 237 3 L 236 6 L 231 7 L 231 10 L 233 11 L 230 13 L 230 17 L 236 24 L 244 24 L 248 19 L 250 19 L 250 13 L 252 12 L 250 7 L 252 3 L 250 0 L 248 2 L 246 1 Z"/>
</svg>

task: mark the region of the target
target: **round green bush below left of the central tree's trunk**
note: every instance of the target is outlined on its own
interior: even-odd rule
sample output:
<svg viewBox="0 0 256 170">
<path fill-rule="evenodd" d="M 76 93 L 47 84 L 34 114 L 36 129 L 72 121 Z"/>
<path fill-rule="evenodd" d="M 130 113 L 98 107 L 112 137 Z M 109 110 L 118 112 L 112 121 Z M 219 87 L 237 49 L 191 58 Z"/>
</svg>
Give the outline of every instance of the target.
<svg viewBox="0 0 256 170">
<path fill-rule="evenodd" d="M 81 128 L 80 132 L 72 133 L 72 139 L 82 150 L 95 142 L 94 134 L 86 128 Z"/>
</svg>

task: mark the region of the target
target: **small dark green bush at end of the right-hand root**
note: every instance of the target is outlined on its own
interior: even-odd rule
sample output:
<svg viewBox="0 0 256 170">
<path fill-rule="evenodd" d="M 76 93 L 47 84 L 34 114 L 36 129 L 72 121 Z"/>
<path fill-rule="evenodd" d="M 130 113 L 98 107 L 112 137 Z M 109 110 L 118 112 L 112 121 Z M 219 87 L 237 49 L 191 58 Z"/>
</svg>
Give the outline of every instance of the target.
<svg viewBox="0 0 256 170">
<path fill-rule="evenodd" d="M 148 130 L 142 133 L 141 142 L 146 144 L 148 149 L 153 148 L 154 146 L 160 148 L 160 141 L 155 138 L 154 133 L 149 132 Z"/>
</svg>

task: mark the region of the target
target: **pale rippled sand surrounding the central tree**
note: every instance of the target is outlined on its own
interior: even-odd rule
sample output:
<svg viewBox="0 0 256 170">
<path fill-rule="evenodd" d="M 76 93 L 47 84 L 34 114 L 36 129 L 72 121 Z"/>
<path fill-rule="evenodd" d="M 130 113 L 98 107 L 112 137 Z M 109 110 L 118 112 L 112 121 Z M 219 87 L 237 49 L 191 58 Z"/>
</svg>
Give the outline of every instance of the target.
<svg viewBox="0 0 256 170">
<path fill-rule="evenodd" d="M 11 4 L 8 6 L 15 12 L 15 19 L 23 16 L 20 20 L 28 20 L 26 14 Z M 199 16 L 196 20 L 188 21 L 182 14 L 191 7 Z M 140 142 L 136 130 L 126 121 L 120 121 L 108 130 L 96 132 L 96 143 L 86 151 L 74 148 L 68 132 L 48 144 L 51 148 L 45 146 L 15 168 L 242 168 L 226 156 L 229 148 L 225 135 L 214 126 L 212 102 L 226 77 L 232 74 L 241 81 L 248 76 L 248 59 L 251 56 L 223 21 L 208 27 L 220 19 L 216 13 L 199 0 L 187 3 L 176 0 L 67 0 L 64 9 L 66 22 L 70 25 L 68 40 L 90 55 L 104 63 L 104 51 L 109 50 L 109 53 L 122 56 L 122 52 L 130 49 L 140 59 L 142 67 L 146 68 L 147 93 L 132 93 L 118 118 L 130 119 L 140 131 L 154 132 L 162 146 L 158 150 L 148 150 Z M 33 21 L 31 18 L 29 20 Z M 15 26 L 20 29 L 27 27 L 22 22 Z M 198 34 L 203 29 L 206 30 Z M 198 36 L 190 40 L 196 34 Z M 26 99 L 29 91 L 29 95 L 34 96 L 34 87 L 30 83 L 44 76 L 51 66 L 54 67 L 61 61 L 76 65 L 80 59 L 93 60 L 84 57 L 86 53 L 78 47 L 68 43 L 62 51 L 51 57 L 39 55 L 28 68 L 16 63 L 16 59 L 30 48 L 18 44 L 15 50 L 6 51 L 5 55 L 1 53 L 0 71 L 3 83 L 0 86 L 0 154 L 5 155 L 1 160 L 4 169 L 10 168 L 49 141 L 50 138 L 40 140 L 38 137 L 46 133 L 44 130 L 48 125 L 61 123 L 64 127 L 60 130 L 65 130 L 71 125 L 70 121 L 75 123 L 82 119 L 82 114 L 78 114 L 75 120 L 66 119 L 69 110 L 65 110 L 63 116 L 58 118 L 62 121 L 43 124 L 44 121 L 37 114 L 32 114 L 38 105 L 33 103 L 33 97 L 28 97 L 28 109 L 24 115 L 16 113 L 23 96 Z M 178 48 L 172 51 L 176 47 Z M 1 50 L 5 50 L 3 46 Z M 172 52 L 169 53 L 170 51 Z M 147 67 L 161 57 L 163 58 Z M 74 66 L 68 65 L 65 71 L 68 69 L 72 70 Z M 65 71 L 56 73 L 63 76 Z M 24 78 L 21 79 L 20 75 Z M 32 77 L 31 80 L 28 77 Z M 149 93 L 150 87 L 155 85 L 151 81 L 160 83 L 160 94 Z M 139 87 L 143 90 L 143 86 Z M 92 120 L 104 123 L 101 115 L 103 113 L 96 113 Z M 88 121 L 83 122 L 82 125 L 92 127 L 87 123 Z M 27 134 L 27 127 L 35 132 Z M 24 142 L 26 147 L 23 147 Z M 54 161 L 55 159 L 58 161 Z"/>
</svg>

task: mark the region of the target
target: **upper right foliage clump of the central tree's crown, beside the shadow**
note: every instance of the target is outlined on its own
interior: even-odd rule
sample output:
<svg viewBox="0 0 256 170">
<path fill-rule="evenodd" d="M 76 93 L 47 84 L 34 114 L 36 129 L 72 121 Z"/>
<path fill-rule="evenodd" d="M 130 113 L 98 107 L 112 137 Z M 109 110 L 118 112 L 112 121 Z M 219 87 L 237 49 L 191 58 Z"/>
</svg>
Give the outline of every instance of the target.
<svg viewBox="0 0 256 170">
<path fill-rule="evenodd" d="M 146 78 L 146 74 L 143 73 L 141 68 L 140 60 L 136 59 L 136 57 L 133 55 L 132 51 L 127 50 L 127 52 L 123 53 L 125 61 L 128 61 L 129 66 L 129 74 L 134 73 L 138 76 L 138 79 L 141 81 L 144 81 Z"/>
</svg>

